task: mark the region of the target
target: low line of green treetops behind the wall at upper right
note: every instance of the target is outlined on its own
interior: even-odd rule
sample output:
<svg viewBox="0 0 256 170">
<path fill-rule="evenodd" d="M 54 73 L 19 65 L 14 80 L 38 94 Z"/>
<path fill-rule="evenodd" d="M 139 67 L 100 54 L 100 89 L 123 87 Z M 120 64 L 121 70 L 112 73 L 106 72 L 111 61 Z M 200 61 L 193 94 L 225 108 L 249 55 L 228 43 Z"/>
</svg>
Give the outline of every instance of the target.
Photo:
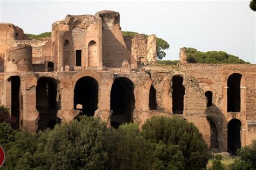
<svg viewBox="0 0 256 170">
<path fill-rule="evenodd" d="M 230 64 L 250 64 L 237 56 L 229 55 L 224 51 L 201 52 L 197 49 L 187 48 L 187 63 L 230 63 Z"/>
</svg>

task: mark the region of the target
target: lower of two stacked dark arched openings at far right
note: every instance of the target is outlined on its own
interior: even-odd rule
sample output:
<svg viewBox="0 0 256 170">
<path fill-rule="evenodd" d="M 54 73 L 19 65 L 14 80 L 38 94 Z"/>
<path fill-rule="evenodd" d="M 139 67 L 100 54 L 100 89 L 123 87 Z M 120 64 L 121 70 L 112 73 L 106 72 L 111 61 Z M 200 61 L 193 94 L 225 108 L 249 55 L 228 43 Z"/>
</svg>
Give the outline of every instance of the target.
<svg viewBox="0 0 256 170">
<path fill-rule="evenodd" d="M 227 151 L 236 154 L 241 148 L 241 121 L 232 119 L 227 124 Z"/>
</svg>

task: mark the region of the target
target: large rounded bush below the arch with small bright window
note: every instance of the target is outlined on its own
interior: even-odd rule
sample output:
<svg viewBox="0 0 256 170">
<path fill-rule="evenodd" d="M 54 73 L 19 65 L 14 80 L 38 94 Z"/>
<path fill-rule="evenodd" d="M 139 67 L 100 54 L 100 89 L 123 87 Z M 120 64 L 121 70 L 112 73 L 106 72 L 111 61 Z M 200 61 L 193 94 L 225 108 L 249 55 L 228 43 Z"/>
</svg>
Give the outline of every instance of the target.
<svg viewBox="0 0 256 170">
<path fill-rule="evenodd" d="M 42 144 L 44 140 L 42 140 Z M 55 126 L 44 147 L 51 169 L 104 169 L 107 161 L 106 126 L 99 118 L 80 117 Z"/>
</svg>

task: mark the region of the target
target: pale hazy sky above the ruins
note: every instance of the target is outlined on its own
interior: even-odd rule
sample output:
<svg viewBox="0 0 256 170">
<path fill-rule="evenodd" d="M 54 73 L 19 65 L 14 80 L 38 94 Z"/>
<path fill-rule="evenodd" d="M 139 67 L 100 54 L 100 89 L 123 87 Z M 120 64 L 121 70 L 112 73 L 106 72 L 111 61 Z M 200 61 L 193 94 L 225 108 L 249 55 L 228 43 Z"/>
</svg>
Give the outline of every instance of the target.
<svg viewBox="0 0 256 170">
<path fill-rule="evenodd" d="M 25 33 L 51 31 L 51 24 L 70 15 L 120 13 L 123 31 L 156 34 L 169 44 L 165 59 L 178 59 L 180 47 L 226 51 L 256 63 L 256 12 L 243 1 L 3 1 L 0 22 L 21 27 Z"/>
</svg>

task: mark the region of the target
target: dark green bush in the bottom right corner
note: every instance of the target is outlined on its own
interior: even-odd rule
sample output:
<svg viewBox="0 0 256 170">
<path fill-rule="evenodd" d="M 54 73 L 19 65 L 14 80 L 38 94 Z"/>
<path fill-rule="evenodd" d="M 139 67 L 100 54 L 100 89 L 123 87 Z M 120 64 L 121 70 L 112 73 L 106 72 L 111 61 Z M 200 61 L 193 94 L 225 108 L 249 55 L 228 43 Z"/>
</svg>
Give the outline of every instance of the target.
<svg viewBox="0 0 256 170">
<path fill-rule="evenodd" d="M 249 146 L 238 150 L 238 159 L 230 165 L 231 169 L 256 169 L 256 140 Z"/>
</svg>

